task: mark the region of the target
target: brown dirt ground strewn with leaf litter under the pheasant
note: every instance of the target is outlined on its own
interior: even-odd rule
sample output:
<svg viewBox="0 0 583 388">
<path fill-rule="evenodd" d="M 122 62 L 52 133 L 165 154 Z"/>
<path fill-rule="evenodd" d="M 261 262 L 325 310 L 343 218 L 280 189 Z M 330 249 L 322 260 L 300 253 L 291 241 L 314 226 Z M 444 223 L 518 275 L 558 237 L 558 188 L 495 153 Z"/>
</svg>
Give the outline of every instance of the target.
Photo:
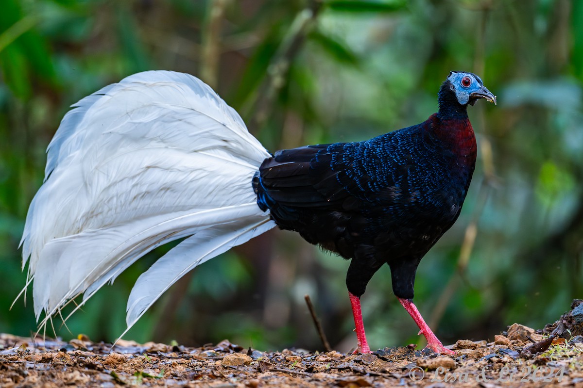
<svg viewBox="0 0 583 388">
<path fill-rule="evenodd" d="M 190 348 L 68 343 L 0 334 L 1 387 L 581 387 L 583 302 L 544 329 L 514 324 L 493 342 L 459 340 L 454 357 L 384 348 L 373 354 L 264 353 L 224 340 Z"/>
</svg>

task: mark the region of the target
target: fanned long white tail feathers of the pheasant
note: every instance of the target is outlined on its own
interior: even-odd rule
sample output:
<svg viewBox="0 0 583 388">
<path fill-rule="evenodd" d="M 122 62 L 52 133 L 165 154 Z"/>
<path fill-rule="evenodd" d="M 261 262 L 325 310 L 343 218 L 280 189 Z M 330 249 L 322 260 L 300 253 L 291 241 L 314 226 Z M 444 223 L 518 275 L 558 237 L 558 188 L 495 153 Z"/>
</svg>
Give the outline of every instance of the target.
<svg viewBox="0 0 583 388">
<path fill-rule="evenodd" d="M 251 186 L 269 153 L 202 81 L 138 73 L 73 107 L 48 146 L 21 241 L 41 325 L 153 248 L 187 237 L 139 277 L 129 329 L 196 265 L 275 226 Z"/>
</svg>

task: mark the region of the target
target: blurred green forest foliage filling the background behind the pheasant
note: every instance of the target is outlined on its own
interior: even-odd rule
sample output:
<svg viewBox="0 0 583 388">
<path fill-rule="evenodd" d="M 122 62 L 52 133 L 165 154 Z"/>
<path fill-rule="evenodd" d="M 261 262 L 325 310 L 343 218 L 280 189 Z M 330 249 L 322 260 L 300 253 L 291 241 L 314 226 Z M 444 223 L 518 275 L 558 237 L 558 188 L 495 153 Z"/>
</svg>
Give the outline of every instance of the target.
<svg viewBox="0 0 583 388">
<path fill-rule="evenodd" d="M 3 1 L 0 332 L 29 335 L 36 328 L 30 296 L 26 306 L 21 298 L 8 309 L 26 282 L 17 247 L 59 120 L 78 99 L 131 73 L 165 68 L 200 75 L 210 3 Z M 218 91 L 272 151 L 363 140 L 418 123 L 436 110 L 437 89 L 450 70 L 480 74 L 498 95 L 496 107 L 470 108 L 479 141 L 473 183 L 458 222 L 417 273 L 415 300 L 428 321 L 445 301 L 436 318 L 445 341 L 491 339 L 515 321 L 541 328 L 582 296 L 581 2 L 296 0 L 225 7 Z M 472 220 L 477 236 L 461 266 Z M 67 322 L 71 333 L 55 317 L 57 333 L 116 339 L 135 279 L 168 248 L 97 293 Z M 346 338 L 352 344 L 346 268 L 293 233 L 268 233 L 196 269 L 127 338 L 202 344 L 228 337 L 241 346 L 319 348 L 303 302 L 310 293 L 333 346 Z M 363 297 L 373 347 L 417 338 L 389 278 L 382 269 Z M 455 291 L 443 296 L 449 283 Z"/>
</svg>

